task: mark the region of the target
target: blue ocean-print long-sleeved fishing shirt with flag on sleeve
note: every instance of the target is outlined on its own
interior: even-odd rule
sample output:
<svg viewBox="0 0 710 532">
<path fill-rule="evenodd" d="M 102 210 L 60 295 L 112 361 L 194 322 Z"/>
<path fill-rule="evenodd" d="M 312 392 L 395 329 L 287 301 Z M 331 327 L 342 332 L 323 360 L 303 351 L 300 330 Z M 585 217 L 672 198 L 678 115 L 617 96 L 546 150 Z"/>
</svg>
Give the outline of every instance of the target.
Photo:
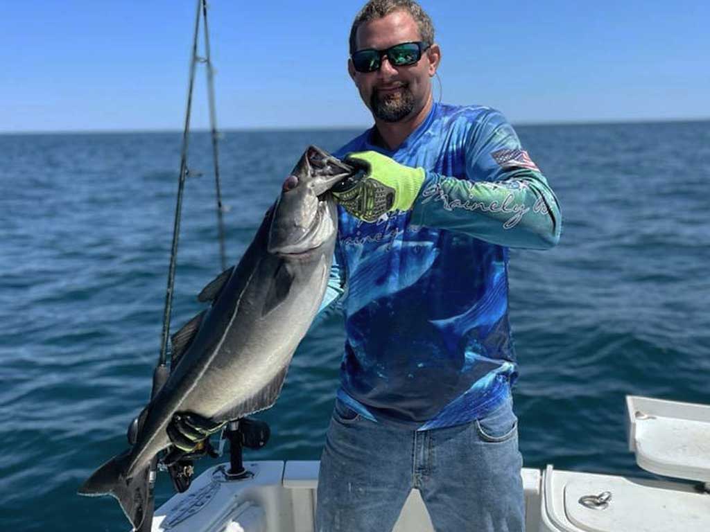
<svg viewBox="0 0 710 532">
<path fill-rule="evenodd" d="M 338 397 L 402 428 L 466 423 L 510 394 L 508 247 L 554 246 L 557 199 L 494 109 L 434 104 L 396 150 L 373 134 L 334 155 L 375 150 L 426 177 L 410 211 L 368 223 L 338 208 L 321 306 L 345 315 Z"/>
</svg>

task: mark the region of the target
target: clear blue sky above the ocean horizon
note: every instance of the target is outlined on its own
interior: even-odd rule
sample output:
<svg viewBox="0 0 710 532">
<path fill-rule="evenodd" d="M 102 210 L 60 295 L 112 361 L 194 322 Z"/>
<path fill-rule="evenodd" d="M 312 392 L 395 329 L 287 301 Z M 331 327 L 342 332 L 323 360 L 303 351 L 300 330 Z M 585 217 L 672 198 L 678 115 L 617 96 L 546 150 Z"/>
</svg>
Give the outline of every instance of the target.
<svg viewBox="0 0 710 532">
<path fill-rule="evenodd" d="M 346 71 L 362 0 L 212 0 L 221 129 L 369 126 Z M 707 0 L 421 0 L 435 98 L 513 123 L 710 118 Z M 0 0 L 0 132 L 181 130 L 197 0 Z M 209 124 L 204 65 L 194 128 Z"/>
</svg>

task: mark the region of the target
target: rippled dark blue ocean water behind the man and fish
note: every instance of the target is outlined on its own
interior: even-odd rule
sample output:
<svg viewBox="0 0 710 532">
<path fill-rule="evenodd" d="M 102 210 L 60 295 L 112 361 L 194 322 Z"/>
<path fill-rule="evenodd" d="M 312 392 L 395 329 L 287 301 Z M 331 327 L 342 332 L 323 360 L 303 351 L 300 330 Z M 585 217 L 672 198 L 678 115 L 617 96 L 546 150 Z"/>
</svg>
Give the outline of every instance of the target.
<svg viewBox="0 0 710 532">
<path fill-rule="evenodd" d="M 355 133 L 225 133 L 229 262 L 306 146 Z M 564 214 L 557 248 L 510 258 L 525 466 L 643 475 L 624 396 L 710 402 L 710 122 L 518 133 Z M 0 135 L 0 530 L 128 528 L 113 499 L 75 492 L 150 394 L 180 137 Z M 173 330 L 220 270 L 210 150 L 192 135 Z M 320 457 L 342 342 L 337 316 L 303 341 L 259 416 L 271 442 L 246 458 Z M 160 475 L 158 504 L 171 489 Z"/>
</svg>

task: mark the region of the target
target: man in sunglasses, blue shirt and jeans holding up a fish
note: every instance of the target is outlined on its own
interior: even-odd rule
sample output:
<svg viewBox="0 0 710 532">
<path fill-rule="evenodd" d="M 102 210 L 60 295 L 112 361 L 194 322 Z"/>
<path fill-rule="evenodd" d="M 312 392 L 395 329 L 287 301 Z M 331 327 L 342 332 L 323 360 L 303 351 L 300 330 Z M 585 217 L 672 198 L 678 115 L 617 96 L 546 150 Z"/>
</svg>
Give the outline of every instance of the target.
<svg viewBox="0 0 710 532">
<path fill-rule="evenodd" d="M 433 102 L 440 60 L 414 1 L 356 16 L 348 71 L 375 124 L 334 154 L 367 177 L 336 192 L 323 306 L 341 301 L 347 339 L 319 532 L 391 531 L 413 488 L 437 532 L 525 526 L 508 247 L 552 247 L 561 216 L 501 113 Z M 215 428 L 195 425 L 173 439 Z"/>
</svg>

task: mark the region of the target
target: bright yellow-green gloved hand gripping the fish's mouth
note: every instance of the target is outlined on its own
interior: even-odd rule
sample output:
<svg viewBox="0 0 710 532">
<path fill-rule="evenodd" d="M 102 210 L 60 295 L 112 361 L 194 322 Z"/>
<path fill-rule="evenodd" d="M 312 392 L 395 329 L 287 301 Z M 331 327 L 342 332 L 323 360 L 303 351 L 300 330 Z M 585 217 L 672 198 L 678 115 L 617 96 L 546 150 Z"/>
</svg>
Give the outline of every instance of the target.
<svg viewBox="0 0 710 532">
<path fill-rule="evenodd" d="M 351 153 L 345 162 L 365 171 L 365 177 L 352 186 L 335 187 L 333 196 L 346 211 L 361 220 L 373 222 L 391 211 L 412 208 L 425 178 L 423 168 L 400 165 L 375 151 Z"/>
</svg>

